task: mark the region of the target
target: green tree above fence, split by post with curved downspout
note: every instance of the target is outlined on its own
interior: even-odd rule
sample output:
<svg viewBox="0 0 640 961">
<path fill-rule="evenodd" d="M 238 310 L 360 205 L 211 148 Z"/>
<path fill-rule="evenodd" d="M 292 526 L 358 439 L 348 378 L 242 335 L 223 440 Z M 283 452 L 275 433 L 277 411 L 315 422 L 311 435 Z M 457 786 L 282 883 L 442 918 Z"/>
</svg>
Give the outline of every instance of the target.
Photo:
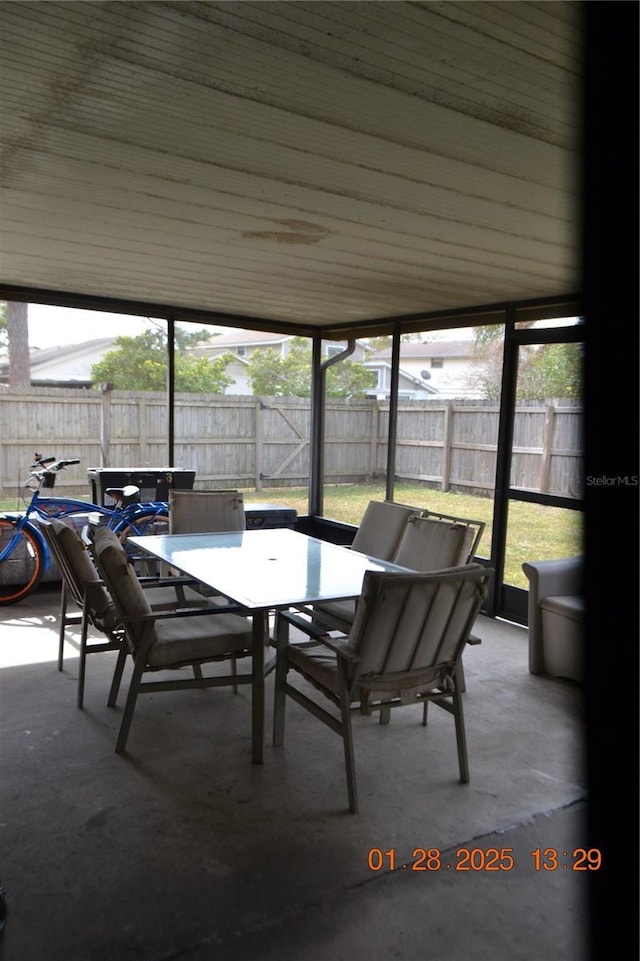
<svg viewBox="0 0 640 961">
<path fill-rule="evenodd" d="M 286 357 L 271 347 L 254 351 L 248 364 L 253 393 L 264 397 L 309 397 L 311 358 L 311 347 L 302 337 L 292 339 Z M 353 361 L 341 361 L 327 371 L 327 396 L 364 397 L 367 388 L 375 383 L 373 371 Z"/>
</svg>

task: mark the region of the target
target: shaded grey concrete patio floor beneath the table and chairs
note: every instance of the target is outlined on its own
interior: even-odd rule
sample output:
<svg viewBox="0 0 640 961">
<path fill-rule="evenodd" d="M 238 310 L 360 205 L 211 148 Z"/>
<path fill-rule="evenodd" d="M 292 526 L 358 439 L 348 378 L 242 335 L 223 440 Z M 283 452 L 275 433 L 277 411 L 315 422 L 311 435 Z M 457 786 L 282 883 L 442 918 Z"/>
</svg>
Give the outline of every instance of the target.
<svg viewBox="0 0 640 961">
<path fill-rule="evenodd" d="M 49 587 L 0 608 L 4 961 L 588 956 L 587 875 L 530 854 L 562 865 L 586 844 L 582 692 L 528 673 L 524 629 L 481 617 L 465 654 L 471 784 L 444 712 L 427 729 L 417 707 L 388 727 L 356 716 L 352 816 L 340 741 L 297 705 L 284 748 L 252 765 L 248 689 L 144 695 L 116 755 L 114 655 L 89 659 L 79 711 L 57 604 Z M 515 866 L 455 870 L 461 847 Z M 437 848 L 442 867 L 373 871 L 372 848 L 398 865 Z"/>
</svg>

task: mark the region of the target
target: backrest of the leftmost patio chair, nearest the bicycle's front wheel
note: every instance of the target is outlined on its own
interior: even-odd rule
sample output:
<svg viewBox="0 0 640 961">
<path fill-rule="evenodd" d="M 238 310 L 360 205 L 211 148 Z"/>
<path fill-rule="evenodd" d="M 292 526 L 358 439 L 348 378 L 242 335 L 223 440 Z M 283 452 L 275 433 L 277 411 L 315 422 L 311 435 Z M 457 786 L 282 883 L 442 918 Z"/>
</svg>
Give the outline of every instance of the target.
<svg viewBox="0 0 640 961">
<path fill-rule="evenodd" d="M 78 532 L 55 517 L 42 520 L 40 529 L 76 604 L 83 607 L 86 598 L 93 620 L 110 618 L 113 603 Z"/>
</svg>

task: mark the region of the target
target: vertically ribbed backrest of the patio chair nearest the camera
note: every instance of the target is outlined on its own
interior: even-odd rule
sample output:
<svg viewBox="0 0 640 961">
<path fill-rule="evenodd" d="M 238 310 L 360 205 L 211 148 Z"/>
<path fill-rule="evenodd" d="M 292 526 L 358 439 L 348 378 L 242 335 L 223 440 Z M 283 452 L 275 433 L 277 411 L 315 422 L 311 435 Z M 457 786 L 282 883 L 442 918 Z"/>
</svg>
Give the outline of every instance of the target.
<svg viewBox="0 0 640 961">
<path fill-rule="evenodd" d="M 360 654 L 358 683 L 375 688 L 388 678 L 411 686 L 451 672 L 492 573 L 480 564 L 427 574 L 368 571 L 347 642 Z"/>
</svg>

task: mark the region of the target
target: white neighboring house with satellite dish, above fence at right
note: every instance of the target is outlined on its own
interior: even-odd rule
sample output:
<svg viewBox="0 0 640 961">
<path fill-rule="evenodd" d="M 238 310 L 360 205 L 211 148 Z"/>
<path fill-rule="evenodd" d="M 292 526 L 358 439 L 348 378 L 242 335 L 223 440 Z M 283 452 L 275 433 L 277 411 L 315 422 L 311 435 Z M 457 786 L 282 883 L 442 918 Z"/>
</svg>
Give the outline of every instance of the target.
<svg viewBox="0 0 640 961">
<path fill-rule="evenodd" d="M 403 341 L 400 369 L 425 386 L 428 383 L 428 393 L 437 393 L 439 399 L 480 398 L 482 392 L 473 383 L 477 369 L 473 346 L 472 340 L 429 340 L 422 344 Z M 379 363 L 391 363 L 391 348 L 373 354 L 367 366 Z"/>
</svg>

